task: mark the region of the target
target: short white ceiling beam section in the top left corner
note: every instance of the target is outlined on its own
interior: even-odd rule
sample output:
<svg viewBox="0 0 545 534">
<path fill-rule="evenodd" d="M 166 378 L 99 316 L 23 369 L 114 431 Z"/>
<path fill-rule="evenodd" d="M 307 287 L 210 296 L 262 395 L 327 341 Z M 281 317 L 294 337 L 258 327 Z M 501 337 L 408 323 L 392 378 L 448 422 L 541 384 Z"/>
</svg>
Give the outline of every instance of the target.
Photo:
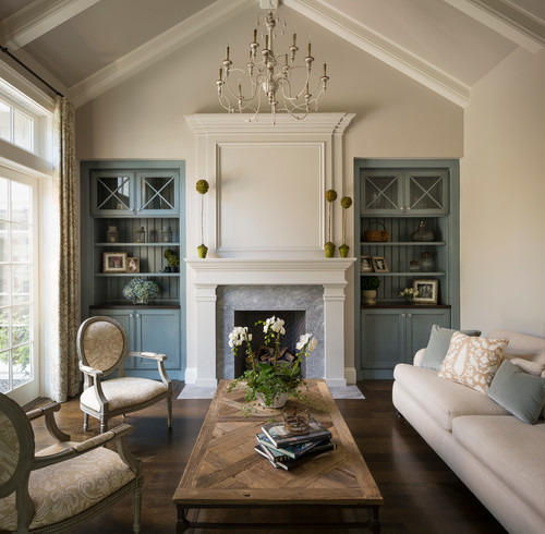
<svg viewBox="0 0 545 534">
<path fill-rule="evenodd" d="M 19 50 L 100 0 L 36 0 L 0 23 L 0 44 Z"/>
</svg>

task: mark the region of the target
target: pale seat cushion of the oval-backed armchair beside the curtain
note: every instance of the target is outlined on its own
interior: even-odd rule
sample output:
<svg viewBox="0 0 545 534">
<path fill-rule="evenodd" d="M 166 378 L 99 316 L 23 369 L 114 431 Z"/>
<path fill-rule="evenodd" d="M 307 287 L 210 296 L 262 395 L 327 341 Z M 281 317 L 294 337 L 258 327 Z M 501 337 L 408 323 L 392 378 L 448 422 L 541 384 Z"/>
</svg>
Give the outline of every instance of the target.
<svg viewBox="0 0 545 534">
<path fill-rule="evenodd" d="M 167 386 L 161 381 L 133 376 L 102 380 L 101 385 L 104 395 L 110 402 L 110 410 L 119 410 L 146 402 L 168 390 Z M 100 411 L 94 386 L 82 393 L 80 403 L 82 406 L 90 408 L 96 412 Z"/>
</svg>

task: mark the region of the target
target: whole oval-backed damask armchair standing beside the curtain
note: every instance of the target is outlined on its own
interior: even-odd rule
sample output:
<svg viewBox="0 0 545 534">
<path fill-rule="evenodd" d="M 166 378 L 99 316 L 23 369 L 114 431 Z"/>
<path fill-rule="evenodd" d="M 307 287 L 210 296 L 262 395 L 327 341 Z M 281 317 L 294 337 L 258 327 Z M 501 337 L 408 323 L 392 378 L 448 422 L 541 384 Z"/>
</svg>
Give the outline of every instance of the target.
<svg viewBox="0 0 545 534">
<path fill-rule="evenodd" d="M 167 399 L 168 425 L 172 426 L 172 385 L 165 371 L 165 354 L 128 352 L 126 332 L 111 317 L 89 317 L 77 332 L 80 369 L 84 374 L 84 391 L 80 398 L 83 428 L 87 429 L 89 415 L 100 420 L 100 432 L 108 428 L 108 420 L 147 408 Z M 160 381 L 124 376 L 126 356 L 155 360 Z M 117 378 L 104 379 L 118 372 Z"/>
</svg>

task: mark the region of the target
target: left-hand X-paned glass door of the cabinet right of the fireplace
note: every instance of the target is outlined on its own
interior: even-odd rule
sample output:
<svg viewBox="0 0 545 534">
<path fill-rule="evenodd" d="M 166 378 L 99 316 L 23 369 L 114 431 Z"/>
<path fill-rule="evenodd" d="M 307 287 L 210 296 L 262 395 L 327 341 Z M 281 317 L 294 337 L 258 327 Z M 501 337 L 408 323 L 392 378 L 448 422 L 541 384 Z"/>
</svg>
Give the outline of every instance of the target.
<svg viewBox="0 0 545 534">
<path fill-rule="evenodd" d="M 396 215 L 402 211 L 402 170 L 362 170 L 360 179 L 363 215 Z"/>
</svg>

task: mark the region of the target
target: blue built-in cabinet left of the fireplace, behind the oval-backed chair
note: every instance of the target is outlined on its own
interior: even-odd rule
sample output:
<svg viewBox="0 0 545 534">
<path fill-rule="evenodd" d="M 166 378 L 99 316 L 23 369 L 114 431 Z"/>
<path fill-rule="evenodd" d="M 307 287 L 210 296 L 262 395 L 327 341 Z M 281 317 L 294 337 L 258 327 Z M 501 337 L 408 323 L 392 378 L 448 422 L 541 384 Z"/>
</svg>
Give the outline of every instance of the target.
<svg viewBox="0 0 545 534">
<path fill-rule="evenodd" d="M 82 318 L 116 318 L 126 330 L 129 350 L 166 354 L 174 379 L 185 371 L 184 174 L 183 161 L 81 163 Z M 167 250 L 180 258 L 175 270 L 166 268 Z M 137 258 L 136 271 L 129 263 L 125 271 L 110 271 L 105 254 L 117 253 Z M 132 278 L 154 280 L 159 294 L 147 304 L 128 301 L 122 292 Z M 157 364 L 129 357 L 125 372 L 156 377 Z"/>
</svg>

